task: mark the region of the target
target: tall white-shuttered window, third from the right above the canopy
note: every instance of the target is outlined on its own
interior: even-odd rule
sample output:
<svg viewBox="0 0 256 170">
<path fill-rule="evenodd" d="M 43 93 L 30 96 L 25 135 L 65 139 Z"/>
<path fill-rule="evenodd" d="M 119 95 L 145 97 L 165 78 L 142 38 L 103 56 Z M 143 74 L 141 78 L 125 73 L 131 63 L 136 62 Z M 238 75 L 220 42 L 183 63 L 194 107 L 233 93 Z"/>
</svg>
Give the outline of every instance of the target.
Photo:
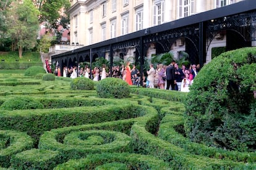
<svg viewBox="0 0 256 170">
<path fill-rule="evenodd" d="M 153 8 L 153 25 L 160 25 L 164 22 L 164 1 L 155 1 Z"/>
</svg>

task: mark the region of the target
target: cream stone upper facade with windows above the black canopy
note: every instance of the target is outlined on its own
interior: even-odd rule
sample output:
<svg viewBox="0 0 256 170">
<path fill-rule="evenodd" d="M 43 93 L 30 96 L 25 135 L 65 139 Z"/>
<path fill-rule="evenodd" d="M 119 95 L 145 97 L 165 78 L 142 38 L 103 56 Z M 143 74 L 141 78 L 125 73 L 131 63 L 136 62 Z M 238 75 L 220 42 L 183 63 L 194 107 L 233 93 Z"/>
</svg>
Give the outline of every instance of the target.
<svg viewBox="0 0 256 170">
<path fill-rule="evenodd" d="M 241 0 L 70 0 L 70 44 L 88 46 Z"/>
</svg>

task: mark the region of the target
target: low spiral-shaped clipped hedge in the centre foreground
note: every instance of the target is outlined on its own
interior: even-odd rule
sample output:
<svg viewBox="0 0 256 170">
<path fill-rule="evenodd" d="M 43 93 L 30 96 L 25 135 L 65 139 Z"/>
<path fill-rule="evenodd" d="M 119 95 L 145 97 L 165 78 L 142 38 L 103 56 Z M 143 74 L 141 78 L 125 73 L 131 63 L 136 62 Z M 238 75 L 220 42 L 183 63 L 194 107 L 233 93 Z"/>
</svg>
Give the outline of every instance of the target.
<svg viewBox="0 0 256 170">
<path fill-rule="evenodd" d="M 131 139 L 127 134 L 116 131 L 88 130 L 71 131 L 58 129 L 55 135 L 46 132 L 40 139 L 41 149 L 51 149 L 60 152 L 66 160 L 82 158 L 89 153 L 127 152 Z M 68 130 L 69 131 L 69 130 Z M 54 133 L 54 131 L 52 131 Z M 55 140 L 61 133 L 67 133 L 63 142 Z M 51 142 L 53 141 L 53 142 Z"/>
</svg>

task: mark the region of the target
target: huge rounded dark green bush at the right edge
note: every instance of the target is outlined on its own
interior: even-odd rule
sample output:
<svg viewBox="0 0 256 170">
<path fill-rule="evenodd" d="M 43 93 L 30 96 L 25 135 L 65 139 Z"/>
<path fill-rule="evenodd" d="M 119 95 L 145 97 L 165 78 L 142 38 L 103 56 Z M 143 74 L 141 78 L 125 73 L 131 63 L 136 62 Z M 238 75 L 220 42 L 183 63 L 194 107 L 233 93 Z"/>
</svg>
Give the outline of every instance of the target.
<svg viewBox="0 0 256 170">
<path fill-rule="evenodd" d="M 255 71 L 255 47 L 225 52 L 202 68 L 186 100 L 184 125 L 192 141 L 255 149 Z"/>
</svg>

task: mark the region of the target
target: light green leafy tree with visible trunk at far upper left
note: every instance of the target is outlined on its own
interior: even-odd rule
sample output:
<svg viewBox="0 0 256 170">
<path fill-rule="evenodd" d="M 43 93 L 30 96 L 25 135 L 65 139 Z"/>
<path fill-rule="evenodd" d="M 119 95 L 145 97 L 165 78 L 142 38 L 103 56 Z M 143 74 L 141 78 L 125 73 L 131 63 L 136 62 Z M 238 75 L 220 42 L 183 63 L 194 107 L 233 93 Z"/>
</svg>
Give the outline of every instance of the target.
<svg viewBox="0 0 256 170">
<path fill-rule="evenodd" d="M 7 33 L 13 39 L 13 50 L 19 49 L 22 58 L 23 48 L 32 49 L 38 36 L 38 15 L 40 12 L 29 0 L 14 2 L 7 10 Z"/>
</svg>

